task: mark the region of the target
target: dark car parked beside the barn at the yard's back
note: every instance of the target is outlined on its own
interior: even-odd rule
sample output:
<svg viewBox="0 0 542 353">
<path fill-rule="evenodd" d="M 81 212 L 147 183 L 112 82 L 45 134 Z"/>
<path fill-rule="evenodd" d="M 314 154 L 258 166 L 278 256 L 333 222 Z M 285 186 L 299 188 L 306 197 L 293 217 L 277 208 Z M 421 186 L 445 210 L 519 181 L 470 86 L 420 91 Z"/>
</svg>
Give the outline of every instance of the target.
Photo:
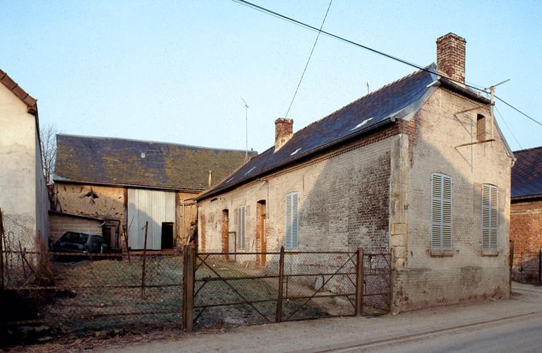
<svg viewBox="0 0 542 353">
<path fill-rule="evenodd" d="M 66 232 L 53 246 L 53 251 L 62 253 L 107 253 L 109 246 L 98 234 Z"/>
</svg>

